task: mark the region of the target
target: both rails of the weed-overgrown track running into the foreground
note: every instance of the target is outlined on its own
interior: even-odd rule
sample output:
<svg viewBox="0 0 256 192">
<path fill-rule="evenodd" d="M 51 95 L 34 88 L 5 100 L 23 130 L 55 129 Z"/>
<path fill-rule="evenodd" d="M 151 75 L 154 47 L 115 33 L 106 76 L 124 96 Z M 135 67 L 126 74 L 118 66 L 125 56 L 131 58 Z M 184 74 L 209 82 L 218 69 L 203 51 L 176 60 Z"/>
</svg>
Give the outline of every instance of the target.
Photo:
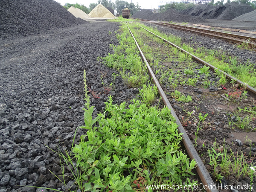
<svg viewBox="0 0 256 192">
<path fill-rule="evenodd" d="M 229 74 L 219 70 L 218 68 L 212 66 L 211 64 L 209 64 L 206 61 L 202 60 L 201 58 L 198 58 L 197 56 L 192 55 L 191 53 L 189 53 L 186 50 L 178 47 L 177 45 L 172 44 L 171 42 L 169 42 L 166 39 L 164 39 L 164 38 L 154 34 L 153 32 L 150 32 L 149 30 L 145 29 L 143 26 L 140 26 L 138 24 L 137 24 L 137 26 L 139 26 L 140 28 L 144 29 L 145 31 L 151 33 L 152 35 L 155 35 L 156 37 L 161 38 L 167 44 L 170 44 L 170 45 L 176 47 L 177 49 L 180 49 L 182 52 L 186 53 L 187 55 L 190 55 L 195 61 L 210 67 L 212 70 L 218 70 L 220 73 L 224 74 L 226 76 L 226 78 L 228 78 L 230 80 L 233 80 L 233 81 L 236 81 L 236 83 L 238 83 L 240 85 L 246 85 L 244 82 L 242 82 L 242 81 L 234 78 L 233 76 L 230 76 Z M 129 28 L 129 26 L 128 26 L 128 28 Z M 129 28 L 129 31 L 130 31 L 132 37 L 134 38 L 134 35 L 132 34 L 130 28 Z M 191 159 L 195 159 L 196 162 L 197 162 L 198 166 L 196 168 L 196 171 L 197 171 L 197 173 L 198 173 L 202 183 L 204 184 L 204 186 L 209 186 L 209 188 L 207 188 L 207 192 L 217 192 L 218 190 L 217 189 L 213 189 L 213 187 L 212 187 L 212 186 L 215 185 L 213 180 L 212 180 L 212 178 L 210 177 L 210 175 L 209 175 L 207 169 L 205 168 L 204 163 L 202 162 L 201 158 L 199 157 L 197 151 L 195 150 L 194 145 L 192 144 L 191 140 L 189 139 L 188 135 L 186 134 L 186 131 L 185 131 L 182 123 L 180 122 L 179 118 L 177 117 L 177 114 L 175 113 L 174 109 L 172 108 L 172 105 L 170 104 L 169 99 L 167 98 L 166 94 L 164 93 L 163 88 L 160 86 L 159 81 L 157 80 L 156 76 L 154 75 L 154 72 L 152 71 L 150 65 L 148 64 L 148 61 L 146 60 L 146 58 L 145 58 L 142 50 L 140 49 L 139 44 L 137 43 L 135 38 L 134 38 L 134 41 L 135 41 L 135 43 L 137 45 L 137 48 L 140 51 L 140 55 L 141 55 L 143 61 L 146 63 L 146 65 L 148 67 L 148 72 L 149 72 L 150 76 L 152 77 L 152 79 L 154 81 L 154 84 L 157 86 L 157 89 L 158 89 L 158 91 L 160 93 L 160 96 L 163 99 L 164 104 L 171 110 L 172 115 L 175 117 L 177 125 L 178 125 L 179 132 L 183 133 L 183 144 L 184 144 L 184 146 L 186 148 L 187 153 L 189 154 L 189 157 Z M 254 89 L 253 87 L 247 86 L 247 90 L 249 90 L 253 94 L 256 94 L 256 89 Z"/>
</svg>

